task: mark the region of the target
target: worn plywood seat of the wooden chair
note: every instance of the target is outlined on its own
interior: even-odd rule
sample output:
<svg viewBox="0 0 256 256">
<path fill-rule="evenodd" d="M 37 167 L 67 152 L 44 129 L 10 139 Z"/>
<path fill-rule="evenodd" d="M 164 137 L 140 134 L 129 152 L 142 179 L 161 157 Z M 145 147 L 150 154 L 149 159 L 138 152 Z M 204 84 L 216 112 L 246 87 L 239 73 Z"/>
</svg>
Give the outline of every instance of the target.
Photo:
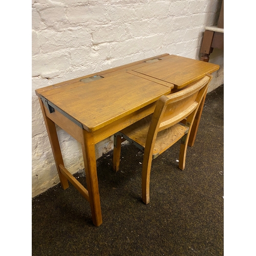
<svg viewBox="0 0 256 256">
<path fill-rule="evenodd" d="M 147 133 L 150 128 L 152 115 L 147 116 L 136 123 L 126 127 L 120 133 L 122 137 L 128 141 L 136 142 L 142 146 L 142 150 L 145 148 Z M 181 139 L 188 131 L 188 127 L 183 124 L 177 123 L 168 129 L 165 129 L 157 134 L 156 142 L 154 145 L 153 159 L 163 153 L 167 148 Z M 133 143 L 133 142 L 132 142 Z"/>
</svg>

